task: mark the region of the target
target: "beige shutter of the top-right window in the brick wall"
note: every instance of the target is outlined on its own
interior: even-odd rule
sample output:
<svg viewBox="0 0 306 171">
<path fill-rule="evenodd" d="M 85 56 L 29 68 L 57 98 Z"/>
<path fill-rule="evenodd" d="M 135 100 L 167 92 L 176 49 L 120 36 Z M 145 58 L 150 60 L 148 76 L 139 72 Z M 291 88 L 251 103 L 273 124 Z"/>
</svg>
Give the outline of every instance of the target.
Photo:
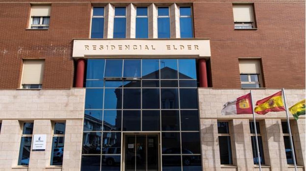
<svg viewBox="0 0 306 171">
<path fill-rule="evenodd" d="M 253 22 L 253 5 L 233 5 L 234 22 Z"/>
</svg>

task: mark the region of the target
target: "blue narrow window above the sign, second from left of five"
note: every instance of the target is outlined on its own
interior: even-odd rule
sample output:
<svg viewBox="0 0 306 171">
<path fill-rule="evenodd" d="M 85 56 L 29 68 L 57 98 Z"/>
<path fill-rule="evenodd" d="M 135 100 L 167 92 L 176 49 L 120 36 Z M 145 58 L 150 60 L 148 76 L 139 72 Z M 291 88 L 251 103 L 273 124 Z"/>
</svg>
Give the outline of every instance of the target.
<svg viewBox="0 0 306 171">
<path fill-rule="evenodd" d="M 125 38 L 125 36 L 126 36 L 126 9 L 125 7 L 115 7 L 113 38 Z"/>
</svg>

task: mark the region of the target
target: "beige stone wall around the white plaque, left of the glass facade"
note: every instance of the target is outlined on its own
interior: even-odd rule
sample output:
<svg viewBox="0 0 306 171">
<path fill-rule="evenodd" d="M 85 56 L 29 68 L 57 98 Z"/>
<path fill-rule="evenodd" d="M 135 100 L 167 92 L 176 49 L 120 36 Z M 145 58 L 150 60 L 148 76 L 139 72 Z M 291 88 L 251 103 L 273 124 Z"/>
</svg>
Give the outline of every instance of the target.
<svg viewBox="0 0 306 171">
<path fill-rule="evenodd" d="M 0 170 L 80 170 L 85 89 L 0 90 Z M 32 151 L 29 166 L 17 166 L 22 121 L 34 121 L 33 134 L 46 134 L 46 150 Z M 50 166 L 53 121 L 65 121 L 62 167 Z"/>
</svg>

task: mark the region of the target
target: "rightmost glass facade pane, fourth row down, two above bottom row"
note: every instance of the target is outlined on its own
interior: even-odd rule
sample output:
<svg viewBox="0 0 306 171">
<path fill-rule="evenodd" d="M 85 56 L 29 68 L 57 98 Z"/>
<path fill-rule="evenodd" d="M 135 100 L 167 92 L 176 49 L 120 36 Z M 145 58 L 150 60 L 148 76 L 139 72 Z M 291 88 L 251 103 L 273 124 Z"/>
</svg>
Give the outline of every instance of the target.
<svg viewBox="0 0 306 171">
<path fill-rule="evenodd" d="M 197 110 L 181 110 L 181 130 L 199 131 L 199 112 Z"/>
</svg>

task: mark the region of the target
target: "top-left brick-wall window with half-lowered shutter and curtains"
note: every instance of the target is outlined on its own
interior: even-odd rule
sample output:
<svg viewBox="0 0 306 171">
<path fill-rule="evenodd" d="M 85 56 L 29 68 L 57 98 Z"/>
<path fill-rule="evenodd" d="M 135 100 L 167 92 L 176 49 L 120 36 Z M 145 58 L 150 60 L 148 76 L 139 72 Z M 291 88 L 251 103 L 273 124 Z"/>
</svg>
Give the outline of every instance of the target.
<svg viewBox="0 0 306 171">
<path fill-rule="evenodd" d="M 33 5 L 31 7 L 31 29 L 48 29 L 50 21 L 50 5 Z"/>
</svg>

